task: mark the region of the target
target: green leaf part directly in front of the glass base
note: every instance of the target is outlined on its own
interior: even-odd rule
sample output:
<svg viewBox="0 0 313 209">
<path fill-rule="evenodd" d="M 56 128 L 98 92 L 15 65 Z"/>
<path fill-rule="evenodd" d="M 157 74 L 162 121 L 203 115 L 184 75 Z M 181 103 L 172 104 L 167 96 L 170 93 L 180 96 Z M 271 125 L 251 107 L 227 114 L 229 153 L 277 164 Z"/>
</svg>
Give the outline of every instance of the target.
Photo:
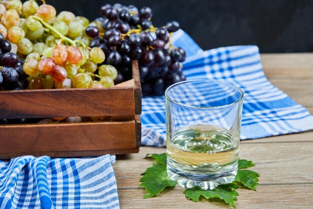
<svg viewBox="0 0 313 209">
<path fill-rule="evenodd" d="M 235 188 L 238 188 L 235 183 L 228 183 L 219 185 L 212 190 L 203 190 L 200 187 L 191 187 L 187 188 L 183 191 L 186 198 L 192 199 L 197 202 L 200 196 L 209 198 L 220 198 L 224 200 L 226 203 L 230 204 L 232 207 L 235 207 L 234 201 L 237 200 L 236 196 L 239 196 L 238 192 L 236 192 Z"/>
</svg>

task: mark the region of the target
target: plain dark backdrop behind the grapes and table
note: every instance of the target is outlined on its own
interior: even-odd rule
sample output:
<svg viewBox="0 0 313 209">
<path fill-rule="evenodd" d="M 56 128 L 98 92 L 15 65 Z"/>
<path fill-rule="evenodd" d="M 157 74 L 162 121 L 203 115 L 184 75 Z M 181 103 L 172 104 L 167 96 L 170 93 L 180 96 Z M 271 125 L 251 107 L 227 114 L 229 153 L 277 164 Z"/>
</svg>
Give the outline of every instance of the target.
<svg viewBox="0 0 313 209">
<path fill-rule="evenodd" d="M 148 6 L 154 26 L 175 20 L 202 49 L 257 45 L 262 53 L 313 51 L 313 0 L 46 0 L 88 19 L 105 3 Z"/>
</svg>

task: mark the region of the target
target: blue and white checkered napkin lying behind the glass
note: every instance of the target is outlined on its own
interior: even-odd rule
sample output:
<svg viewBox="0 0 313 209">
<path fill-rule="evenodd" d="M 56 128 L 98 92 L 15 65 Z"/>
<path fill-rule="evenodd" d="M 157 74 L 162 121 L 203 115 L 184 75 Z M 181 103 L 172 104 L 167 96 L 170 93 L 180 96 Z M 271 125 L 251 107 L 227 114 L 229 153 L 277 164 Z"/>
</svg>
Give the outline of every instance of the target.
<svg viewBox="0 0 313 209">
<path fill-rule="evenodd" d="M 187 54 L 183 72 L 187 80 L 225 81 L 244 92 L 241 139 L 256 139 L 313 129 L 313 116 L 265 77 L 256 46 L 222 47 L 202 51 L 183 31 L 172 42 Z M 165 101 L 142 99 L 142 144 L 165 146 Z"/>
</svg>

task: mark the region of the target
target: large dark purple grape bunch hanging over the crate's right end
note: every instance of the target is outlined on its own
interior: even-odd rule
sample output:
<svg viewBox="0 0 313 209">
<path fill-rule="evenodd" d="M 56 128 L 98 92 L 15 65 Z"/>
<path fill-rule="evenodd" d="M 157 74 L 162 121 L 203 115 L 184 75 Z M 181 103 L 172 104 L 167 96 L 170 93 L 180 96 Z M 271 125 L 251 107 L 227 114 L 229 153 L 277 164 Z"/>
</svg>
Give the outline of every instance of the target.
<svg viewBox="0 0 313 209">
<path fill-rule="evenodd" d="M 152 11 L 148 7 L 138 10 L 135 6 L 103 5 L 99 13 L 102 17 L 104 33 L 95 26 L 85 29 L 92 38 L 90 48 L 99 47 L 105 54 L 103 64 L 114 66 L 117 71 L 115 84 L 131 77 L 131 61 L 138 60 L 142 95 L 164 94 L 171 84 L 184 81 L 181 63 L 185 51 L 170 42 L 171 33 L 180 29 L 177 22 L 155 28 L 152 25 Z"/>
</svg>

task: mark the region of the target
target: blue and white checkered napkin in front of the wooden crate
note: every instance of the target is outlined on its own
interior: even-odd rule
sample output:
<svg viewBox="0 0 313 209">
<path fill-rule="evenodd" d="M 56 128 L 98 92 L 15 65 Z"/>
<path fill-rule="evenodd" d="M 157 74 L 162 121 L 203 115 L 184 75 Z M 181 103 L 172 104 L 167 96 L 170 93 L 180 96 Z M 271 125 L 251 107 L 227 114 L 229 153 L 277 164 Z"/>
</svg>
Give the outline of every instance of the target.
<svg viewBox="0 0 313 209">
<path fill-rule="evenodd" d="M 119 208 L 110 156 L 0 161 L 0 208 Z"/>
</svg>

